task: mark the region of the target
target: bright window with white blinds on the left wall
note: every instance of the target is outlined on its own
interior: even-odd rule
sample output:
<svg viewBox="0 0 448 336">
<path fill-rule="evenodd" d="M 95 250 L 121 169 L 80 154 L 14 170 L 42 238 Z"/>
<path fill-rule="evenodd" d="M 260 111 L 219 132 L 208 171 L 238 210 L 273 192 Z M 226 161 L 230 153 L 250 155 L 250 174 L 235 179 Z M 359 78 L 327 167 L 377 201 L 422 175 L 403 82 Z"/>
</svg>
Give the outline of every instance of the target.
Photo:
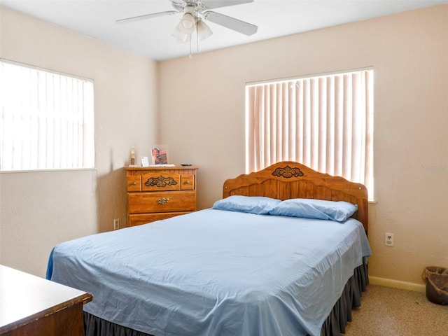
<svg viewBox="0 0 448 336">
<path fill-rule="evenodd" d="M 0 61 L 0 170 L 94 167 L 93 82 Z"/>
</svg>

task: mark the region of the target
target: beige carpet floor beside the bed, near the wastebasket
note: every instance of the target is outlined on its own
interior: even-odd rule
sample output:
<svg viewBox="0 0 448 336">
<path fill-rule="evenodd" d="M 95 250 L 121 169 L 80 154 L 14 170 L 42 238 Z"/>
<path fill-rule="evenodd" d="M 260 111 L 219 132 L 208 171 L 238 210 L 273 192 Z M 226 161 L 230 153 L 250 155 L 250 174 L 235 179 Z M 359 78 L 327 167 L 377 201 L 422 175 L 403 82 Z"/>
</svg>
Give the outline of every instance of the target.
<svg viewBox="0 0 448 336">
<path fill-rule="evenodd" d="M 345 336 L 448 336 L 448 306 L 425 293 L 367 286 Z"/>
</svg>

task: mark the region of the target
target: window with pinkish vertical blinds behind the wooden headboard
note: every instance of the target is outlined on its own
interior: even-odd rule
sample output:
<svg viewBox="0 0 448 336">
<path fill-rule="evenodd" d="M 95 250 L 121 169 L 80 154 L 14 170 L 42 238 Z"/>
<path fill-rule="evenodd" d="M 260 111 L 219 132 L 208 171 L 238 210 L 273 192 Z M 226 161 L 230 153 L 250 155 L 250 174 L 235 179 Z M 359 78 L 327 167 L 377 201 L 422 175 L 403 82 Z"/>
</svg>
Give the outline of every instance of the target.
<svg viewBox="0 0 448 336">
<path fill-rule="evenodd" d="M 373 199 L 373 70 L 246 85 L 246 172 L 292 160 Z"/>
</svg>

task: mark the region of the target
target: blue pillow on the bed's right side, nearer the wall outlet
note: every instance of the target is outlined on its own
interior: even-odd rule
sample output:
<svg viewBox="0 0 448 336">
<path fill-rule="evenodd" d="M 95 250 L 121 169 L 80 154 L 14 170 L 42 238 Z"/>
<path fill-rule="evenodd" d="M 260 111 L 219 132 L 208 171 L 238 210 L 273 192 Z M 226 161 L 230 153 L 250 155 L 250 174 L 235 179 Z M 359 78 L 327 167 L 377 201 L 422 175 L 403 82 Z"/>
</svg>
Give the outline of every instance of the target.
<svg viewBox="0 0 448 336">
<path fill-rule="evenodd" d="M 281 202 L 269 214 L 343 222 L 353 215 L 356 210 L 358 210 L 356 204 L 344 201 L 293 198 Z"/>
</svg>

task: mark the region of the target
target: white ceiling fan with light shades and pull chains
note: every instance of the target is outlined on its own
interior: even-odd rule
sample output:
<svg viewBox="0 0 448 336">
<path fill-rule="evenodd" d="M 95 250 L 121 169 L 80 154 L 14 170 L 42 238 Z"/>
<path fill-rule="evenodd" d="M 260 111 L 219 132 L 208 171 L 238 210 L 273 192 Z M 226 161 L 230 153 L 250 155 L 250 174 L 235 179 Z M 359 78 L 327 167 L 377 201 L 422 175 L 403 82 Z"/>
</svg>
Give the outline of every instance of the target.
<svg viewBox="0 0 448 336">
<path fill-rule="evenodd" d="M 228 15 L 216 13 L 211 9 L 240 5 L 242 3 L 250 3 L 253 0 L 169 0 L 174 10 L 165 12 L 151 13 L 146 15 L 134 16 L 116 20 L 116 23 L 127 23 L 159 16 L 174 15 L 183 13 L 179 24 L 174 29 L 172 35 L 179 42 L 191 41 L 191 34 L 197 31 L 197 37 L 200 40 L 207 38 L 213 34 L 210 27 L 204 20 L 214 22 L 217 25 L 238 31 L 241 34 L 251 36 L 257 32 L 258 27 L 251 23 L 232 18 Z"/>
</svg>

